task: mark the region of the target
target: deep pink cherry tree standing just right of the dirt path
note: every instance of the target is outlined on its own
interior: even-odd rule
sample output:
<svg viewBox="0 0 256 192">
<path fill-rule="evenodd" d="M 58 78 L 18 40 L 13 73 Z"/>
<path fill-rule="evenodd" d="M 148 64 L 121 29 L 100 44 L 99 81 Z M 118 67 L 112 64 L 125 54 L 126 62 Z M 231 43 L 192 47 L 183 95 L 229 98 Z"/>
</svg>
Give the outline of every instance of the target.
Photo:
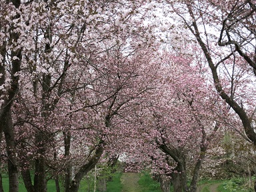
<svg viewBox="0 0 256 192">
<path fill-rule="evenodd" d="M 126 116 L 126 127 L 135 130 L 126 137 L 123 131 L 130 140 L 125 161 L 135 169 L 150 161 L 164 191 L 170 182 L 175 191 L 196 191 L 207 149 L 221 127 L 219 115 L 227 110 L 192 55 L 161 53 L 159 58 L 155 89 Z"/>
</svg>

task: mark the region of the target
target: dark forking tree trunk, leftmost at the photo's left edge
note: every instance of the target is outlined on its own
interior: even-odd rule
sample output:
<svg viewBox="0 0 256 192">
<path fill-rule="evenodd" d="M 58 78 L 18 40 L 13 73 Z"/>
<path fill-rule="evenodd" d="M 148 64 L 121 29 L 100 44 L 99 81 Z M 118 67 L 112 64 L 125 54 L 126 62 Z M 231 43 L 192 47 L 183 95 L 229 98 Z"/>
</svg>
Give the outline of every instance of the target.
<svg viewBox="0 0 256 192">
<path fill-rule="evenodd" d="M 15 8 L 19 8 L 21 4 L 20 0 L 7 1 L 6 3 L 13 3 Z M 19 13 L 13 16 L 13 19 L 18 19 L 20 17 Z M 15 27 L 12 25 L 10 31 L 10 42 L 17 43 L 19 39 L 19 33 L 15 32 Z M 5 42 L 0 49 L 1 56 L 3 57 L 3 63 L 0 63 L 0 72 L 1 79 L 0 83 L 3 85 L 5 83 L 5 54 L 7 53 Z M 18 43 L 19 45 L 19 43 Z M 14 48 L 15 49 L 15 48 Z M 13 101 L 17 92 L 19 91 L 19 76 L 17 72 L 21 70 L 21 47 L 16 47 L 15 51 L 11 50 L 11 83 L 9 90 L 4 93 L 5 97 L 3 105 L 0 109 L 0 134 L 4 132 L 5 141 L 6 141 L 6 151 L 8 158 L 8 172 L 9 172 L 9 191 L 18 192 L 19 191 L 19 178 L 18 178 L 18 169 L 17 169 L 17 159 L 16 159 L 16 145 L 15 145 L 15 135 L 14 135 L 14 127 L 13 127 L 13 119 L 11 116 L 11 107 L 13 105 Z M 17 57 L 17 59 L 13 59 Z M 3 96 L 2 94 L 0 96 Z"/>
</svg>

